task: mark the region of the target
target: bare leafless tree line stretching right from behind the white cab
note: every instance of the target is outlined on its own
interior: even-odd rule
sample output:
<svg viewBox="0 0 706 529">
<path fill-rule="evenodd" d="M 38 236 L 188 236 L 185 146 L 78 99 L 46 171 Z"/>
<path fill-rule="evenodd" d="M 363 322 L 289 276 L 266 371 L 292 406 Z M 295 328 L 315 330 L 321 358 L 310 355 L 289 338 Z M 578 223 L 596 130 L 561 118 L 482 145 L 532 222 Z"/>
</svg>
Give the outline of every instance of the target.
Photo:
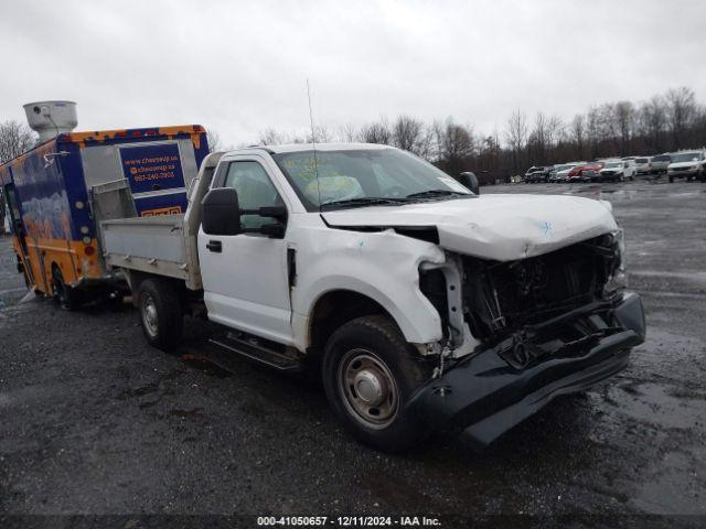
<svg viewBox="0 0 706 529">
<path fill-rule="evenodd" d="M 506 179 L 530 165 L 597 158 L 649 155 L 706 144 L 706 107 L 687 87 L 673 88 L 643 102 L 616 101 L 590 107 L 566 120 L 514 110 L 502 131 L 478 133 L 453 118 L 431 123 L 398 116 L 335 130 L 287 134 L 268 129 L 261 144 L 327 141 L 384 143 L 418 154 L 451 174 L 471 170 Z"/>
</svg>

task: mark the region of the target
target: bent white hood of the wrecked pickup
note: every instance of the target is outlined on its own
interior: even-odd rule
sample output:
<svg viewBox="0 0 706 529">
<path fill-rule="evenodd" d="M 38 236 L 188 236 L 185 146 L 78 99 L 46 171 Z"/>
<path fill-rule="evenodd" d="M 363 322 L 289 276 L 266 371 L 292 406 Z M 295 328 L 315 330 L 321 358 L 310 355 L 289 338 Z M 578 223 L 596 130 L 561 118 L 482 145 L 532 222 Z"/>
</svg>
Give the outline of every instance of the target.
<svg viewBox="0 0 706 529">
<path fill-rule="evenodd" d="M 323 212 L 331 227 L 436 227 L 447 250 L 498 261 L 539 256 L 618 228 L 609 203 L 576 196 L 477 198 Z"/>
</svg>

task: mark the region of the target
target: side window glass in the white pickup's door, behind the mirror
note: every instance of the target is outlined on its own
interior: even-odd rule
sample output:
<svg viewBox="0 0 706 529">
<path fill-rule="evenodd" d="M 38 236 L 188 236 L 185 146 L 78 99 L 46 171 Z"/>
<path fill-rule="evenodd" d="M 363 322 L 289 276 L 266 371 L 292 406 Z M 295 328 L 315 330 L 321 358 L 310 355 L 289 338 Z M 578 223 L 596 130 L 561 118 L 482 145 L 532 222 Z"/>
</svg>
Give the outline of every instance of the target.
<svg viewBox="0 0 706 529">
<path fill-rule="evenodd" d="M 257 209 L 265 206 L 281 206 L 282 199 L 267 172 L 258 162 L 231 162 L 225 175 L 224 187 L 234 187 L 238 192 L 240 209 Z M 243 215 L 244 228 L 259 228 L 271 223 L 271 218 L 259 215 Z"/>
</svg>

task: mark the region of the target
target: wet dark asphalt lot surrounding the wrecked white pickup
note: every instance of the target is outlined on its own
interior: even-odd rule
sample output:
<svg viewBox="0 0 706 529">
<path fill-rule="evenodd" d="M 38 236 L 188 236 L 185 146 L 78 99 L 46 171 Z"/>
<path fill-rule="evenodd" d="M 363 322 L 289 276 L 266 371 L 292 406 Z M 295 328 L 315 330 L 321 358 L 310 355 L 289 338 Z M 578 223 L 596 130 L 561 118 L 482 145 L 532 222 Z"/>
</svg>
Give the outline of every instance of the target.
<svg viewBox="0 0 706 529">
<path fill-rule="evenodd" d="M 0 514 L 706 515 L 706 184 L 482 188 L 599 191 L 648 341 L 480 456 L 447 436 L 405 456 L 362 446 L 319 385 L 199 360 L 204 322 L 168 355 L 131 309 L 20 302 L 0 238 Z"/>
</svg>

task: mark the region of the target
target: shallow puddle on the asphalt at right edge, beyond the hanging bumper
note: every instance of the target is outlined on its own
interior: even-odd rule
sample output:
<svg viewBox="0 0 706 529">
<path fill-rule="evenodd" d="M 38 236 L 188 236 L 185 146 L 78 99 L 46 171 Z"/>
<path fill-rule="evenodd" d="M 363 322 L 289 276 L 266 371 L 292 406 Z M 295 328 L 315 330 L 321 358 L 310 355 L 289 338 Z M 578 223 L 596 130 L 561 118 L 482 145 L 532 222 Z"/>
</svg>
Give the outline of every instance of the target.
<svg viewBox="0 0 706 529">
<path fill-rule="evenodd" d="M 660 429 L 693 429 L 706 420 L 706 393 L 644 382 L 613 387 L 608 397 L 621 413 Z"/>
</svg>

